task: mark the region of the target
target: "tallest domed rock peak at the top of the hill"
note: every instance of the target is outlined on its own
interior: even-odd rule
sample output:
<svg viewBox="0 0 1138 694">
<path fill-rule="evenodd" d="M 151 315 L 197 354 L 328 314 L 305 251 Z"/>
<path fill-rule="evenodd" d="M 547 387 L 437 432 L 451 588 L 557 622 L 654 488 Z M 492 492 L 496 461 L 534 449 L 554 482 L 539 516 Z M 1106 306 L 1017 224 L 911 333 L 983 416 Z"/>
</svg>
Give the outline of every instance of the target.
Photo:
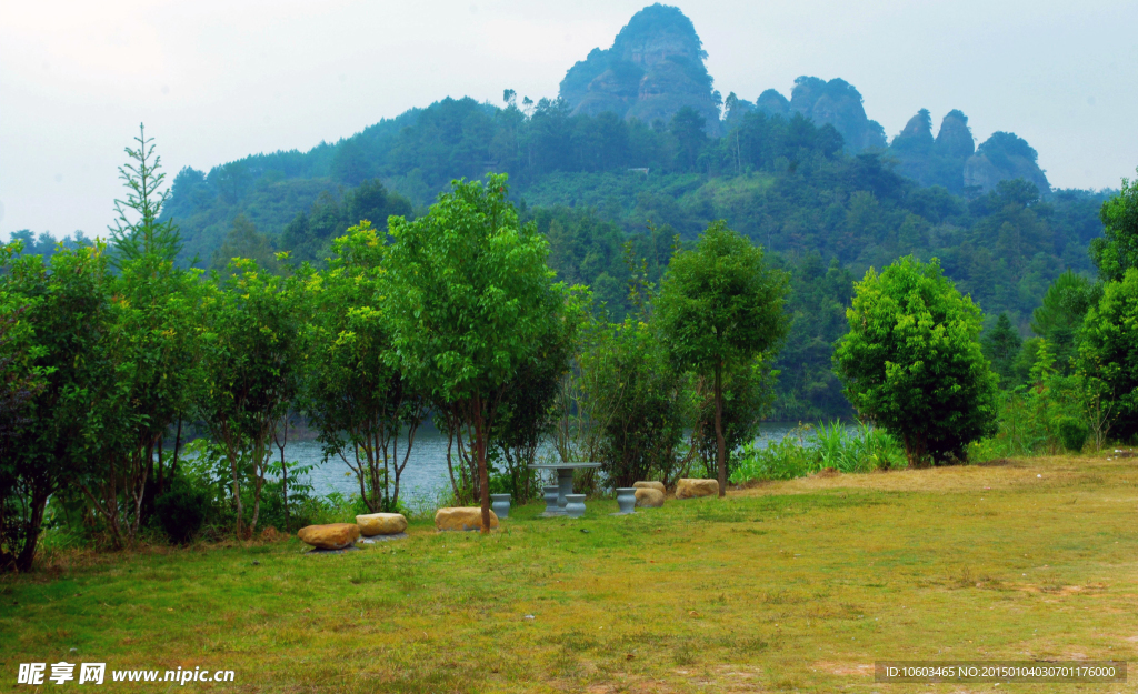
<svg viewBox="0 0 1138 694">
<path fill-rule="evenodd" d="M 593 49 L 561 81 L 561 98 L 575 114 L 612 111 L 630 119 L 668 122 L 691 106 L 719 127 L 719 94 L 703 60 L 695 27 L 678 8 L 653 5 L 636 13 L 612 48 Z"/>
</svg>

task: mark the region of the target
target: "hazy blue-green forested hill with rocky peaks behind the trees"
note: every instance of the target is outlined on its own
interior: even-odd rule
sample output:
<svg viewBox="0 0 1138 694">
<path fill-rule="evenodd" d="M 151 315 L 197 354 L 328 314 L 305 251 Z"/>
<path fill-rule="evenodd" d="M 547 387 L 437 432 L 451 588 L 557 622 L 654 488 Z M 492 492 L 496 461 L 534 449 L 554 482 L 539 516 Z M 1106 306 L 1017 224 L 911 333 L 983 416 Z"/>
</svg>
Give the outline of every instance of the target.
<svg viewBox="0 0 1138 694">
<path fill-rule="evenodd" d="M 840 79 L 800 77 L 789 99 L 770 89 L 756 89 L 754 101 L 720 99 L 704 57 L 678 9 L 652 6 L 611 48 L 569 68 L 559 99 L 448 98 L 307 152 L 187 168 L 166 213 L 184 258 L 204 266 L 233 255 L 271 263 L 274 249 L 320 263 L 361 218 L 382 225 L 424 209 L 452 179 L 505 172 L 561 276 L 591 284 L 616 316 L 630 267 L 643 262 L 658 279 L 674 234 L 692 239 L 724 218 L 794 272 L 784 418 L 848 407 L 831 346 L 852 281 L 869 266 L 940 257 L 990 320 L 1007 311 L 1024 333 L 1052 280 L 1090 272 L 1105 195 L 1052 190 L 1034 149 L 1013 133 L 978 148 L 963 113 L 933 135 L 921 109 L 887 144 Z"/>
</svg>

